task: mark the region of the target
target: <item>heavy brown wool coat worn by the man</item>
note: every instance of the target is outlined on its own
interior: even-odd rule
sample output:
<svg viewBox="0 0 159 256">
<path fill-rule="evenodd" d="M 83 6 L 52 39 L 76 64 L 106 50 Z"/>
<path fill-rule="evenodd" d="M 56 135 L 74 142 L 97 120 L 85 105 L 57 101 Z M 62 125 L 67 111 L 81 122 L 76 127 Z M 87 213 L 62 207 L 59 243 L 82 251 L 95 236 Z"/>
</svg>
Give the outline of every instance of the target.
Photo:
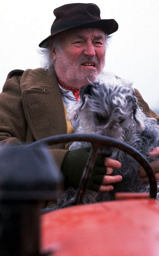
<svg viewBox="0 0 159 256">
<path fill-rule="evenodd" d="M 149 117 L 159 115 L 135 90 L 139 105 Z M 0 143 L 28 144 L 48 136 L 66 133 L 65 112 L 55 73 L 41 68 L 13 70 L 0 94 Z M 51 153 L 59 166 L 67 150 L 52 145 Z"/>
</svg>

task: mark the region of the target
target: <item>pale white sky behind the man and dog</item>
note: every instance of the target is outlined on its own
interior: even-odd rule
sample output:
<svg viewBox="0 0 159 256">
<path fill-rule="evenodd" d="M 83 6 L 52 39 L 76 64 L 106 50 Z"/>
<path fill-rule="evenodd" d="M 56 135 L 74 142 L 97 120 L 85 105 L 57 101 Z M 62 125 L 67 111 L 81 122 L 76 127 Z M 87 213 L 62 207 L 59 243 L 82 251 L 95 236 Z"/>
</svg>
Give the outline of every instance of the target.
<svg viewBox="0 0 159 256">
<path fill-rule="evenodd" d="M 40 67 L 39 43 L 50 35 L 53 10 L 89 1 L 5 0 L 0 6 L 0 91 L 14 69 Z M 159 1 L 91 1 L 101 19 L 115 19 L 119 29 L 109 42 L 107 71 L 133 81 L 152 109 L 159 109 Z"/>
</svg>

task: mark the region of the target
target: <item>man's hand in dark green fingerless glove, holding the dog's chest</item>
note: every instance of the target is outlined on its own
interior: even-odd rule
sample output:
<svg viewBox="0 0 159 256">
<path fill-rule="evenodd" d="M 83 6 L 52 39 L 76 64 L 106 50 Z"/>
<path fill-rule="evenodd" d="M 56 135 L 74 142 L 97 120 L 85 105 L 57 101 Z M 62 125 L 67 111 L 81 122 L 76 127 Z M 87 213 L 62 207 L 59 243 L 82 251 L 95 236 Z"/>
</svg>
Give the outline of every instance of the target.
<svg viewBox="0 0 159 256">
<path fill-rule="evenodd" d="M 68 151 L 62 163 L 61 169 L 65 178 L 65 189 L 77 188 L 81 180 L 83 169 L 86 165 L 90 147 Z M 94 191 L 111 191 L 113 183 L 122 180 L 122 176 L 111 176 L 113 168 L 120 168 L 121 164 L 113 159 L 97 155 L 87 188 Z"/>
</svg>

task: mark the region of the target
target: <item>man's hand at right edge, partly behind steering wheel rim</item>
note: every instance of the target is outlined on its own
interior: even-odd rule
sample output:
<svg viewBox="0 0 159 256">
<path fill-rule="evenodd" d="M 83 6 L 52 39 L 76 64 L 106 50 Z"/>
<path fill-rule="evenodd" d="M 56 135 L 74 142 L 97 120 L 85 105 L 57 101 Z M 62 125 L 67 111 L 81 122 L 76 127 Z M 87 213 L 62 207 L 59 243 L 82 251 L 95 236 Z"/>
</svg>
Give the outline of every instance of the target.
<svg viewBox="0 0 159 256">
<path fill-rule="evenodd" d="M 159 156 L 159 147 L 154 148 L 151 152 L 149 152 L 149 156 Z M 151 162 L 151 165 L 154 169 L 156 179 L 159 180 L 159 160 Z M 140 166 L 138 172 L 141 177 L 141 183 L 144 184 L 149 182 L 149 179 L 147 178 L 147 174 L 143 167 Z"/>
</svg>

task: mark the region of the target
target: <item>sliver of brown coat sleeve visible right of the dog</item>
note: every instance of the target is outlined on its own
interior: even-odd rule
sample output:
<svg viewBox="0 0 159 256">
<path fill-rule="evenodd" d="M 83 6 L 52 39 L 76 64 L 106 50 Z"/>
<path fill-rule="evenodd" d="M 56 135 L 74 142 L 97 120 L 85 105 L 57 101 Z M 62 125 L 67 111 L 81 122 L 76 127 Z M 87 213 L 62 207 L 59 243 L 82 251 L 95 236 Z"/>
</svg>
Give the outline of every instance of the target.
<svg viewBox="0 0 159 256">
<path fill-rule="evenodd" d="M 144 99 L 142 98 L 141 94 L 137 89 L 135 89 L 135 94 L 136 97 L 138 98 L 139 106 L 142 108 L 145 115 L 147 115 L 148 117 L 156 118 L 157 122 L 159 123 L 159 114 L 155 113 L 149 108 L 149 105 L 144 101 Z"/>
</svg>

